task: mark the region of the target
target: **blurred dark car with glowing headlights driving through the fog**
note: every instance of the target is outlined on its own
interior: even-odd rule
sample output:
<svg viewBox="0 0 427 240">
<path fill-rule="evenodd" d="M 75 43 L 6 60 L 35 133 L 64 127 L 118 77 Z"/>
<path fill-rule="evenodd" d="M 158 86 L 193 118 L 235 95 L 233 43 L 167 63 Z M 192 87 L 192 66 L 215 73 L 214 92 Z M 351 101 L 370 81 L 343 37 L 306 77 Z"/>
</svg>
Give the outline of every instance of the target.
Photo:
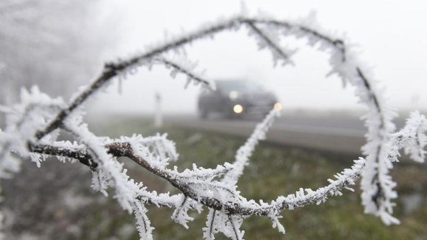
<svg viewBox="0 0 427 240">
<path fill-rule="evenodd" d="M 282 108 L 273 92 L 259 81 L 218 80 L 215 83 L 215 91 L 202 91 L 198 97 L 198 112 L 202 118 L 212 112 L 233 118 L 249 113 L 266 114 L 273 108 Z"/>
</svg>

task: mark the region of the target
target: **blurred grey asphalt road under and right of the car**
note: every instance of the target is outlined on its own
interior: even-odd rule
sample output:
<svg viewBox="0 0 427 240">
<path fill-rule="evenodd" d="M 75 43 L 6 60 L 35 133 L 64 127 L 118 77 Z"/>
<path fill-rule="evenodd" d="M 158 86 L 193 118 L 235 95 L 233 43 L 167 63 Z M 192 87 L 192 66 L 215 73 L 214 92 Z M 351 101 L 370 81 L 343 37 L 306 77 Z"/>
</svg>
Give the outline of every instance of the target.
<svg viewBox="0 0 427 240">
<path fill-rule="evenodd" d="M 205 120 L 194 115 L 168 115 L 165 122 L 184 128 L 226 133 L 247 137 L 261 118 L 245 117 L 239 120 L 225 120 L 210 117 Z M 403 126 L 404 119 L 394 123 Z M 361 154 L 366 140 L 366 128 L 356 115 L 345 114 L 283 114 L 276 120 L 267 134 L 267 140 L 276 144 L 301 146 L 318 150 Z"/>
</svg>

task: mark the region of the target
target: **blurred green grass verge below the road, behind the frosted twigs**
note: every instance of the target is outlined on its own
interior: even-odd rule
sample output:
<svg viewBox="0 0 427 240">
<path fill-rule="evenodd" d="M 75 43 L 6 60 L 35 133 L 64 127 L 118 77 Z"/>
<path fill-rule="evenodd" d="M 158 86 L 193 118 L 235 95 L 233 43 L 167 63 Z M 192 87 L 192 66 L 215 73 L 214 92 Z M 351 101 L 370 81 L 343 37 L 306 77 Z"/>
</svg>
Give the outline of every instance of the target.
<svg viewBox="0 0 427 240">
<path fill-rule="evenodd" d="M 147 122 L 127 119 L 110 122 L 109 126 L 101 126 L 96 131 L 109 136 L 130 135 L 133 132 L 148 135 L 155 132 L 147 126 Z M 193 162 L 203 167 L 214 167 L 224 161 L 232 162 L 235 151 L 245 142 L 242 138 L 171 126 L 166 126 L 161 132 L 168 132 L 169 139 L 176 141 L 180 153 L 180 160 L 176 165 L 180 170 L 191 167 Z M 326 185 L 327 178 L 348 167 L 352 158 L 355 157 L 262 143 L 257 147 L 250 165 L 239 181 L 239 190 L 247 198 L 270 201 L 278 195 L 293 193 L 300 187 L 315 189 Z M 138 165 L 127 163 L 127 167 L 131 176 L 142 180 L 149 190 L 176 192 L 167 182 Z M 242 226 L 246 232 L 245 239 L 427 239 L 425 166 L 398 165 L 393 176 L 401 195 L 395 208 L 395 215 L 402 222 L 400 225 L 385 226 L 378 218 L 363 214 L 358 183 L 355 186 L 356 192 L 346 191 L 343 196 L 330 198 L 320 206 L 284 211 L 281 223 L 285 226 L 286 235 L 273 229 L 271 222 L 263 217 L 249 217 Z M 404 212 L 402 196 L 414 194 L 421 196 L 420 207 L 412 212 Z M 170 219 L 172 210 L 156 207 L 148 209 L 151 224 L 156 228 L 155 239 L 202 239 L 201 228 L 205 225 L 206 208 L 202 214 L 191 214 L 195 221 L 189 224 L 189 230 Z M 139 239 L 133 230 L 133 217 L 122 211 L 114 199 L 109 198 L 104 204 L 91 208 L 85 221 L 87 224 L 83 229 L 83 239 L 106 239 L 111 236 L 120 240 Z M 217 239 L 225 238 L 218 235 Z"/>
</svg>

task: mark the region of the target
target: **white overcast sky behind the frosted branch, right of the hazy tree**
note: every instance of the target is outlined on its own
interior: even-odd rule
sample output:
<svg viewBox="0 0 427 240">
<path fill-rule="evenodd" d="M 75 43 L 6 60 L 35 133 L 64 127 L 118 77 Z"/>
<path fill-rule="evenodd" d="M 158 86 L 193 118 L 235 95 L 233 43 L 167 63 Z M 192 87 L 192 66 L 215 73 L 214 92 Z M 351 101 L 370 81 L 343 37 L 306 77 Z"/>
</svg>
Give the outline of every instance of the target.
<svg viewBox="0 0 427 240">
<path fill-rule="evenodd" d="M 374 66 L 375 76 L 386 88 L 389 103 L 396 108 L 427 109 L 427 3 L 423 1 L 319 1 L 246 0 L 251 13 L 268 12 L 279 19 L 308 16 L 316 11 L 318 22 L 327 29 L 345 32 L 358 43 L 362 59 Z M 202 23 L 240 11 L 232 0 L 121 0 L 106 1 L 99 15 L 115 19 L 119 39 L 110 58 L 142 51 L 164 39 L 164 32 L 191 31 Z M 271 54 L 257 50 L 245 29 L 221 33 L 214 40 L 202 40 L 188 48 L 188 56 L 206 69 L 208 77 L 263 80 L 288 108 L 356 109 L 360 106 L 353 89 L 342 89 L 341 80 L 326 78 L 328 56 L 304 42 L 298 47 L 296 66 L 273 68 Z M 151 112 L 154 93 L 163 96 L 167 112 L 195 112 L 199 87 L 184 90 L 185 78 L 171 80 L 163 67 L 142 68 L 123 82 L 122 95 L 116 86 L 110 95 L 99 96 L 97 107 L 118 112 Z"/>
</svg>

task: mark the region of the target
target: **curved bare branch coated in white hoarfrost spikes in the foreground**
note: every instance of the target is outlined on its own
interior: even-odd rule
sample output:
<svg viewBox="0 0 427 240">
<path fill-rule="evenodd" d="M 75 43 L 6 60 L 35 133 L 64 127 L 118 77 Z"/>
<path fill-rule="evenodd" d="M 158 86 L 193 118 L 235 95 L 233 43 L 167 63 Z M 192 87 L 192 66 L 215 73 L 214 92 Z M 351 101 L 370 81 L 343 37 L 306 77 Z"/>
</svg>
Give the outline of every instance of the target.
<svg viewBox="0 0 427 240">
<path fill-rule="evenodd" d="M 365 116 L 368 133 L 367 144 L 363 147 L 365 157 L 341 173 L 328 179 L 328 184 L 316 190 L 299 189 L 287 196 L 280 195 L 274 201 L 246 199 L 237 190 L 237 182 L 243 174 L 258 141 L 272 125 L 279 112 L 272 110 L 260 123 L 236 153 L 233 163 L 224 163 L 214 169 L 205 169 L 193 165 L 193 169 L 179 172 L 177 168 L 168 168 L 171 161 L 178 159 L 175 144 L 165 136 L 143 138 L 140 135 L 112 139 L 99 137 L 92 133 L 87 124 L 82 122 L 82 103 L 100 89 L 105 88 L 112 79 L 123 78 L 134 68 L 150 67 L 152 64 L 164 64 L 176 73 L 184 74 L 189 82 L 201 84 L 214 89 L 213 82 L 197 73 L 194 64 L 167 58 L 166 54 L 182 53 L 184 48 L 201 38 L 212 37 L 223 31 L 237 31 L 245 27 L 260 48 L 272 52 L 275 64 L 291 64 L 291 55 L 295 52 L 280 45 L 280 37 L 294 35 L 304 37 L 310 46 L 319 47 L 330 54 L 331 74 L 338 74 L 345 83 L 354 85 L 360 102 L 369 108 Z M 30 157 L 38 166 L 47 156 L 57 156 L 59 160 L 78 160 L 90 168 L 93 174 L 92 188 L 108 195 L 109 188 L 115 189 L 114 198 L 120 206 L 134 213 L 137 229 L 141 239 L 152 239 L 154 227 L 146 215 L 146 205 L 172 208 L 172 219 L 188 228 L 187 222 L 192 218 L 188 211 L 200 211 L 209 208 L 206 227 L 203 228 L 205 239 L 214 239 L 217 232 L 224 233 L 234 240 L 243 239 L 244 231 L 240 229 L 244 219 L 251 215 L 269 218 L 274 228 L 285 233 L 279 223 L 280 213 L 284 210 L 301 208 L 311 204 L 321 204 L 329 196 L 342 195 L 344 189 L 352 191 L 351 185 L 362 177 L 362 204 L 365 212 L 381 218 L 385 224 L 398 224 L 392 216 L 397 197 L 393 190 L 395 183 L 389 175 L 393 163 L 397 161 L 399 150 L 404 148 L 410 157 L 423 161 L 425 156 L 427 120 L 418 112 L 411 114 L 407 124 L 394 132 L 387 102 L 382 98 L 377 81 L 371 80 L 367 67 L 361 63 L 353 48 L 348 48 L 348 40 L 325 31 L 314 21 L 277 20 L 266 16 L 232 16 L 201 28 L 175 36 L 157 43 L 146 51 L 124 60 L 107 63 L 99 77 L 86 89 L 65 103 L 61 98 L 50 98 L 33 88 L 23 92 L 21 102 L 9 108 L 7 127 L 1 133 L 0 176 L 10 176 L 18 171 L 19 159 Z M 76 142 L 57 141 L 59 131 L 74 135 Z M 126 157 L 147 169 L 150 173 L 164 178 L 181 193 L 149 192 L 142 183 L 136 183 L 126 174 L 126 169 L 117 161 Z M 217 179 L 220 180 L 217 180 Z"/>
</svg>

